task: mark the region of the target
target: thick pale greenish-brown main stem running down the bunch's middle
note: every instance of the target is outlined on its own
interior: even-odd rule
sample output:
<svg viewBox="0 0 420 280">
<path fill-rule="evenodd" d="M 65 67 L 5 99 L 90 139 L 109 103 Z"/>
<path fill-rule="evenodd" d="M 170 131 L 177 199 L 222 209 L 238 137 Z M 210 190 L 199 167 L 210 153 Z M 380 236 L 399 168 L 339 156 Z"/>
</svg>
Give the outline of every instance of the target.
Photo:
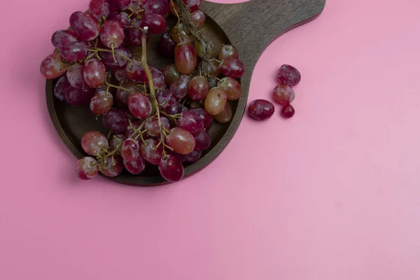
<svg viewBox="0 0 420 280">
<path fill-rule="evenodd" d="M 158 99 L 156 99 L 156 92 L 155 92 L 155 85 L 153 84 L 153 76 L 152 76 L 152 72 L 151 69 L 149 68 L 148 64 L 147 64 L 147 52 L 146 52 L 146 34 L 148 31 L 148 27 L 144 27 L 144 29 L 142 29 L 143 31 L 143 35 L 141 36 L 141 64 L 143 65 L 144 71 L 146 72 L 146 76 L 148 79 L 148 86 L 149 86 L 149 92 L 150 92 L 150 96 L 151 96 L 151 103 L 152 106 L 155 108 L 156 111 L 156 116 L 158 117 L 158 125 L 160 128 L 160 142 L 158 144 L 158 146 L 155 147 L 155 149 L 158 149 L 160 145 L 162 145 L 163 147 L 163 155 L 167 155 L 166 151 L 165 151 L 165 147 L 169 148 L 172 150 L 172 148 L 170 148 L 169 146 L 167 146 L 167 144 L 165 144 L 165 127 L 163 127 L 162 122 L 160 121 L 160 109 L 159 109 L 159 104 L 158 104 Z"/>
</svg>

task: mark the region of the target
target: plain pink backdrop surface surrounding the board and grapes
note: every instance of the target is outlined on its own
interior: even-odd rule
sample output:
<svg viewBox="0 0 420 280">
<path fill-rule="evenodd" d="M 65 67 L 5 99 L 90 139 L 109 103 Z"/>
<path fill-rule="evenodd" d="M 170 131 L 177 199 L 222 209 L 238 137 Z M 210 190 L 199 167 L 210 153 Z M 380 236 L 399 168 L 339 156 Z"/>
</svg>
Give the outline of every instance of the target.
<svg viewBox="0 0 420 280">
<path fill-rule="evenodd" d="M 0 279 L 420 279 L 420 1 L 327 2 L 253 73 L 250 101 L 302 71 L 295 118 L 131 188 L 78 181 L 45 106 L 50 35 L 87 0 L 3 1 Z"/>
</svg>

